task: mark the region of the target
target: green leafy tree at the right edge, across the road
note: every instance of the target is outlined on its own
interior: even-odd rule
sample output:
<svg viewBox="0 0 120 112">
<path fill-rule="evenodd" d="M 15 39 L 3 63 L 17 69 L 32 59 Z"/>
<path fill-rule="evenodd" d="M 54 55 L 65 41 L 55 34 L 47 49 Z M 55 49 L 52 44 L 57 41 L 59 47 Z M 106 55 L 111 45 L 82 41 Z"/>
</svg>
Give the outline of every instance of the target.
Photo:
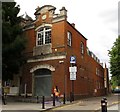
<svg viewBox="0 0 120 112">
<path fill-rule="evenodd" d="M 110 54 L 110 72 L 114 85 L 120 86 L 120 36 L 114 42 L 114 45 L 109 51 Z"/>
</svg>

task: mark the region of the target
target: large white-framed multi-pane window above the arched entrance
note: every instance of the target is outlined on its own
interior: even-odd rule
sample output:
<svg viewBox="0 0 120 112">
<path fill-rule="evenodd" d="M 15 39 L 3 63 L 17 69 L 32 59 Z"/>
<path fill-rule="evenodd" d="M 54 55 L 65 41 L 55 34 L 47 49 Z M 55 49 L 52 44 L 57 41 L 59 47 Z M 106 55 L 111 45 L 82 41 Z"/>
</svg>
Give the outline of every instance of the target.
<svg viewBox="0 0 120 112">
<path fill-rule="evenodd" d="M 36 45 L 51 43 L 51 27 L 42 27 L 37 31 Z"/>
</svg>

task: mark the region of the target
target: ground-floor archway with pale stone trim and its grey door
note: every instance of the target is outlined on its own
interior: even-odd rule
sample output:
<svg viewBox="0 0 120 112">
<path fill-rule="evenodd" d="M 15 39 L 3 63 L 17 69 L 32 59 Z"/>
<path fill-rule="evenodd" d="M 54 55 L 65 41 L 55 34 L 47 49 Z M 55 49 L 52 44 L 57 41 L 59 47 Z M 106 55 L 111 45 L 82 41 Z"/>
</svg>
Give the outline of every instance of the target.
<svg viewBox="0 0 120 112">
<path fill-rule="evenodd" d="M 43 93 L 44 95 L 50 95 L 52 89 L 51 72 L 53 71 L 55 71 L 55 68 L 49 64 L 36 65 L 30 69 L 30 73 L 32 73 L 33 96 L 43 95 Z"/>
</svg>

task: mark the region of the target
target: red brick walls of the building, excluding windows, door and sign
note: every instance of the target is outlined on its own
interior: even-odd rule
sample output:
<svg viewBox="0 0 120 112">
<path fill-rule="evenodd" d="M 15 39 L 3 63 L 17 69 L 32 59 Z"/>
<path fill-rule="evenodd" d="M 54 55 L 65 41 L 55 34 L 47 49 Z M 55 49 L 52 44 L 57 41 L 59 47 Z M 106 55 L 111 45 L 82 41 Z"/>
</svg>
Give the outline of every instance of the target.
<svg viewBox="0 0 120 112">
<path fill-rule="evenodd" d="M 44 14 L 47 16 L 46 19 L 42 19 Z M 76 56 L 75 66 L 77 67 L 77 73 L 76 80 L 74 81 L 75 97 L 104 95 L 104 68 L 96 58 L 94 59 L 94 57 L 88 54 L 87 39 L 75 28 L 75 25 L 70 24 L 66 20 L 66 16 L 58 16 L 58 20 L 56 19 L 53 22 L 52 14 L 53 13 L 49 11 L 42 13 L 35 21 L 35 27 L 25 30 L 28 39 L 25 50 L 26 54 L 33 52 L 33 48 L 36 47 L 36 28 L 45 26 L 45 24 L 51 26 L 50 47 L 52 49 L 48 54 L 43 53 L 38 56 L 31 55 L 31 58 L 28 58 L 28 63 L 23 66 L 22 83 L 23 85 L 27 83 L 27 92 L 33 93 L 34 89 L 34 85 L 32 84 L 33 74 L 30 72 L 31 69 L 37 65 L 47 64 L 55 69 L 51 71 L 52 88 L 57 85 L 61 94 L 66 93 L 66 96 L 69 97 L 72 91 L 72 81 L 70 80 L 69 73 L 69 67 L 71 66 L 70 56 Z M 60 19 L 60 17 L 63 18 Z M 72 35 L 71 46 L 68 45 L 68 32 Z M 81 43 L 83 44 L 83 51 L 81 49 Z M 55 57 L 55 59 L 53 57 Z"/>
</svg>

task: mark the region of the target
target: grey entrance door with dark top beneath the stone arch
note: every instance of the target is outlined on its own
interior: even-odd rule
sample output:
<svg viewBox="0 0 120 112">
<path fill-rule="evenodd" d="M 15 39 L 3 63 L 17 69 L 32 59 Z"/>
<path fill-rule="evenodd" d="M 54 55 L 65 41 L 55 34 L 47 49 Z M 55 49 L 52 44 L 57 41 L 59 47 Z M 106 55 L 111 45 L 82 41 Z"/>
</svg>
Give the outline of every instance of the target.
<svg viewBox="0 0 120 112">
<path fill-rule="evenodd" d="M 35 71 L 34 77 L 35 96 L 50 96 L 52 81 L 51 71 L 48 69 L 38 69 Z"/>
</svg>

